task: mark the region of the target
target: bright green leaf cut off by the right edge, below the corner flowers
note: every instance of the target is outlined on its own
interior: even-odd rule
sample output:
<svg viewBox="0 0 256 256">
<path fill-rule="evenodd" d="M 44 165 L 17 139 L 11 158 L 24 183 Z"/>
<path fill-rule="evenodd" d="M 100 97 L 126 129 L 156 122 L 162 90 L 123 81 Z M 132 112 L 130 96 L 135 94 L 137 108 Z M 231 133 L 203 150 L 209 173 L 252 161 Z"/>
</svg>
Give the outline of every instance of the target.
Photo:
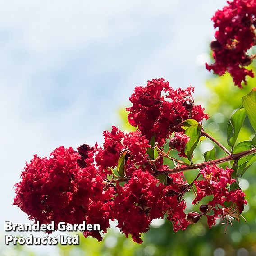
<svg viewBox="0 0 256 256">
<path fill-rule="evenodd" d="M 252 88 L 251 92 L 242 97 L 242 105 L 247 112 L 252 128 L 256 132 L 256 88 Z"/>
</svg>

